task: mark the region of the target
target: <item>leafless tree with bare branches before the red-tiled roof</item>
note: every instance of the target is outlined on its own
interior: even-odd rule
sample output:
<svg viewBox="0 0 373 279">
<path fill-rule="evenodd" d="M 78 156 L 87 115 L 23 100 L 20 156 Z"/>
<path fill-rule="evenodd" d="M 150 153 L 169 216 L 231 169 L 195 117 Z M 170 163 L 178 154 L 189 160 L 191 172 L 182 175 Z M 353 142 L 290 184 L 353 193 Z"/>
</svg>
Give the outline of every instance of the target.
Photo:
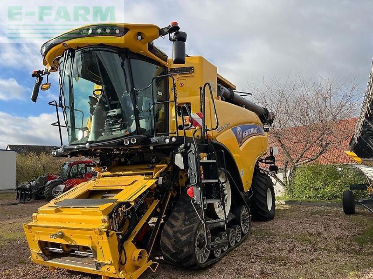
<svg viewBox="0 0 373 279">
<path fill-rule="evenodd" d="M 357 115 L 359 84 L 355 78 L 315 80 L 297 75 L 247 85 L 256 102 L 275 113 L 269 137 L 285 157 L 283 186 L 291 185 L 297 167 L 351 136 L 352 131 L 344 131 L 338 122 Z"/>
</svg>

